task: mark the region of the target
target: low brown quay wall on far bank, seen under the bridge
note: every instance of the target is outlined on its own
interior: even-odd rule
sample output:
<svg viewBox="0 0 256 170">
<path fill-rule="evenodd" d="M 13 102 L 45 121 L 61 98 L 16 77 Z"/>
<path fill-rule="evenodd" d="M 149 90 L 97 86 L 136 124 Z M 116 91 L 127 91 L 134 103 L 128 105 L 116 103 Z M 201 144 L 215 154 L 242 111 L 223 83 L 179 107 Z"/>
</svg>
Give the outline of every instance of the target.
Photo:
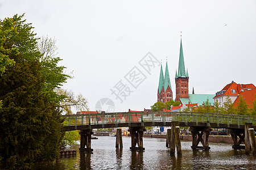
<svg viewBox="0 0 256 170">
<path fill-rule="evenodd" d="M 162 138 L 166 139 L 166 134 L 144 134 L 145 138 Z M 192 135 L 182 135 L 182 141 L 192 141 Z M 233 144 L 230 135 L 209 135 L 208 142 Z"/>
</svg>

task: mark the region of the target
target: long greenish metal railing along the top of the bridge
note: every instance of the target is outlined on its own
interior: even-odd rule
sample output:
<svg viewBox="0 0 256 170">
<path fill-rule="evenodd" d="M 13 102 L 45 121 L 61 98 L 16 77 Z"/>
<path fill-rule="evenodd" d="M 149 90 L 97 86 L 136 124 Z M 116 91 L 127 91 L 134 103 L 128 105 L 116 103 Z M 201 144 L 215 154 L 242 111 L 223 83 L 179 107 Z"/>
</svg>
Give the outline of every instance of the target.
<svg viewBox="0 0 256 170">
<path fill-rule="evenodd" d="M 133 122 L 166 122 L 180 121 L 185 122 L 209 122 L 219 124 L 244 125 L 247 122 L 256 124 L 256 117 L 237 114 L 218 114 L 218 113 L 198 113 L 198 112 L 119 112 L 119 113 L 96 113 L 96 114 L 71 114 L 63 115 L 64 126 L 80 125 L 102 125 L 127 123 L 129 126 Z"/>
</svg>

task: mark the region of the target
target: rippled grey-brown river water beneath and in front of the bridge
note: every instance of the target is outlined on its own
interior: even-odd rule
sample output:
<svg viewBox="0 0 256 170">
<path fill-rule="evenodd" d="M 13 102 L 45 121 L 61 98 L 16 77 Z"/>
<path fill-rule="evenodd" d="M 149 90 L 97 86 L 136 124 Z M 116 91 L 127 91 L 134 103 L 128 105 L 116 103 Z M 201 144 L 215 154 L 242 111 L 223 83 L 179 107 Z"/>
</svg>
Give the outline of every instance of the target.
<svg viewBox="0 0 256 170">
<path fill-rule="evenodd" d="M 123 137 L 123 149 L 115 148 L 115 137 L 92 140 L 93 154 L 40 163 L 34 169 L 256 169 L 256 156 L 236 151 L 232 145 L 209 143 L 210 151 L 192 151 L 192 142 L 181 142 L 182 156 L 170 156 L 165 139 L 143 138 L 144 152 L 130 151 L 130 137 Z"/>
</svg>

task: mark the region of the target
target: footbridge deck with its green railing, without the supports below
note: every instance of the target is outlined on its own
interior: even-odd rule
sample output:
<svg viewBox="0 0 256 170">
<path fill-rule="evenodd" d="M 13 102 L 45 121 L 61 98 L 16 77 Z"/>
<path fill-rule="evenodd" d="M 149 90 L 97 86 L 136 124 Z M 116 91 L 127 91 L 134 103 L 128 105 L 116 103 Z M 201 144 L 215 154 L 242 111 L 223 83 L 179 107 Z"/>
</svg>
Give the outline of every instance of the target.
<svg viewBox="0 0 256 170">
<path fill-rule="evenodd" d="M 119 112 L 63 115 L 64 130 L 121 128 L 131 126 L 210 126 L 211 128 L 244 129 L 246 123 L 256 126 L 256 117 L 237 114 L 198 112 Z M 208 125 L 207 125 L 208 124 Z"/>
</svg>

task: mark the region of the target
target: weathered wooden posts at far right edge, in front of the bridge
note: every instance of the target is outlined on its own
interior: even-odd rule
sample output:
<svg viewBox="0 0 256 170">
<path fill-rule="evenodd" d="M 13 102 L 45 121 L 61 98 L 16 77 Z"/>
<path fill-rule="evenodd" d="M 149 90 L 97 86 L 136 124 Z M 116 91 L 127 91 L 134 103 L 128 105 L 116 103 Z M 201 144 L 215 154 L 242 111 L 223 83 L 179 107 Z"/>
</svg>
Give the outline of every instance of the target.
<svg viewBox="0 0 256 170">
<path fill-rule="evenodd" d="M 252 151 L 254 155 L 256 154 L 255 133 L 251 123 L 245 124 L 245 151 Z"/>
</svg>

